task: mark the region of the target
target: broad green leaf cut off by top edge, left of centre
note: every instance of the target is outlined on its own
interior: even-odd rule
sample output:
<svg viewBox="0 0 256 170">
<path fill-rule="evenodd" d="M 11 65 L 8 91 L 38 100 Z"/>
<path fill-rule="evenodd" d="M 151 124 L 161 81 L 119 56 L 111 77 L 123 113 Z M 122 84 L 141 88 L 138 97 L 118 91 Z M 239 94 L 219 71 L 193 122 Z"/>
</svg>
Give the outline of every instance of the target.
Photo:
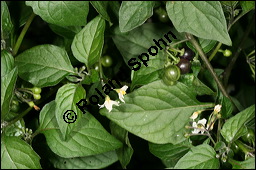
<svg viewBox="0 0 256 170">
<path fill-rule="evenodd" d="M 34 13 L 59 26 L 83 26 L 89 12 L 88 1 L 26 1 Z"/>
</svg>

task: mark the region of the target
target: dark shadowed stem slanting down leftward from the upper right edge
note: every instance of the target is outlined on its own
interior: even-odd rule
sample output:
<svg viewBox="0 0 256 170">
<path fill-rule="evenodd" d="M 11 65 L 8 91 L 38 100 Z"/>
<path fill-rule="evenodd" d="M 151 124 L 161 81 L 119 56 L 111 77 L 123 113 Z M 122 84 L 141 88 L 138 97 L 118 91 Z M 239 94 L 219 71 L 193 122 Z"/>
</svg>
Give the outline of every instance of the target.
<svg viewBox="0 0 256 170">
<path fill-rule="evenodd" d="M 252 17 L 252 19 L 251 19 L 251 21 L 250 21 L 250 25 L 248 26 L 247 30 L 245 31 L 244 35 L 242 36 L 243 38 L 242 38 L 242 40 L 240 41 L 240 44 L 239 44 L 239 46 L 238 46 L 238 48 L 237 48 L 236 53 L 234 54 L 234 56 L 232 57 L 232 59 L 231 59 L 229 65 L 227 66 L 227 68 L 226 68 L 225 71 L 224 71 L 224 79 L 223 79 L 223 80 L 224 80 L 224 85 L 225 85 L 225 87 L 226 87 L 227 84 L 228 84 L 228 79 L 229 79 L 229 76 L 230 76 L 230 74 L 231 74 L 231 71 L 232 71 L 232 69 L 233 69 L 233 67 L 234 67 L 234 64 L 235 64 L 235 62 L 236 62 L 236 60 L 237 60 L 237 58 L 238 58 L 240 52 L 242 51 L 242 48 L 243 48 L 244 43 L 245 43 L 245 41 L 246 41 L 246 39 L 247 39 L 247 37 L 248 37 L 248 35 L 249 35 L 251 29 L 252 29 L 252 26 L 253 26 L 253 24 L 255 24 L 254 20 L 255 20 L 255 15 L 253 15 L 253 17 Z"/>
</svg>

